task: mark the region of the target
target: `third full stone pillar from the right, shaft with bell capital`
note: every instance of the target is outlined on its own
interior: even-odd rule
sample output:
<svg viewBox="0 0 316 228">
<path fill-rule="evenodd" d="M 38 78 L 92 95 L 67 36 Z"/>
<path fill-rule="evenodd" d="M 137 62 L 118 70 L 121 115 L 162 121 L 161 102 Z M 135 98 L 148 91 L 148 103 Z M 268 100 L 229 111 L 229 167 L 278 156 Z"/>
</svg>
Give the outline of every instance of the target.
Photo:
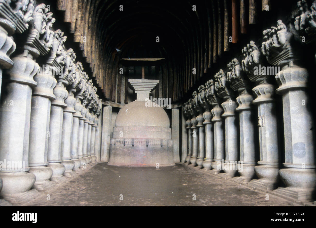
<svg viewBox="0 0 316 228">
<path fill-rule="evenodd" d="M 255 160 L 255 126 L 252 121 L 252 100 L 253 97 L 249 93 L 241 94 L 236 98 L 239 112 L 239 128 L 240 128 L 240 165 L 239 170 L 243 183 L 248 183 L 255 176 L 254 166 Z"/>
</svg>

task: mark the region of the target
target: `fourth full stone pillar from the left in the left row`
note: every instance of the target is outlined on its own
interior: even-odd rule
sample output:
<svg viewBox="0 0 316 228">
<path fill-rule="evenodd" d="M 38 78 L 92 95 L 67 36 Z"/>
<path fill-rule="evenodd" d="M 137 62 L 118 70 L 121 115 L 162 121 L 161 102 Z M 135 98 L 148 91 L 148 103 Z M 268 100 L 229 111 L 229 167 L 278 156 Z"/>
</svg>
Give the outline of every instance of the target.
<svg viewBox="0 0 316 228">
<path fill-rule="evenodd" d="M 76 98 L 73 95 L 72 88 L 70 88 L 67 99 L 65 99 L 67 105 L 64 108 L 64 117 L 63 117 L 63 133 L 62 133 L 62 142 L 61 142 L 61 159 L 63 160 L 61 164 L 65 166 L 64 175 L 71 177 L 73 173 L 73 168 L 76 164 L 71 160 L 70 148 L 71 148 L 71 135 L 72 135 L 72 116 L 73 113 L 76 113 L 74 106 L 76 104 Z M 80 164 L 79 164 L 80 165 Z"/>
</svg>

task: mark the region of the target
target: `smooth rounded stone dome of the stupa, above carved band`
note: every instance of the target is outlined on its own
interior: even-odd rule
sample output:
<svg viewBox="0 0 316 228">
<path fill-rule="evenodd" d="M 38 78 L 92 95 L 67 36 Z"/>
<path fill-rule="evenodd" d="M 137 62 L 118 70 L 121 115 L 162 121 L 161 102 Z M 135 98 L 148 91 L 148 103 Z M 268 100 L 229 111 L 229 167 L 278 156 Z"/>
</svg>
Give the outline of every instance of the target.
<svg viewBox="0 0 316 228">
<path fill-rule="evenodd" d="M 121 126 L 151 126 L 170 127 L 168 115 L 162 107 L 153 107 L 155 103 L 146 101 L 133 101 L 125 105 L 119 111 L 115 127 Z M 154 104 L 154 105 L 153 105 Z"/>
</svg>

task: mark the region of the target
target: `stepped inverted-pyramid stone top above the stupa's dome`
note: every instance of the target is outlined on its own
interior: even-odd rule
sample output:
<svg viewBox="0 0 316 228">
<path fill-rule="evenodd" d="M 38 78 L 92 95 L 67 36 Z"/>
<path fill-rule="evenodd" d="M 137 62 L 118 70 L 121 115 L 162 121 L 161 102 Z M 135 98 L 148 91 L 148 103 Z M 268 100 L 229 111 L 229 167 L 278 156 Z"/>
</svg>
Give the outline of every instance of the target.
<svg viewBox="0 0 316 228">
<path fill-rule="evenodd" d="M 153 91 L 159 83 L 159 80 L 149 79 L 129 79 L 128 81 L 137 94 L 137 101 L 146 101 L 145 99 L 149 98 L 149 93 Z"/>
</svg>

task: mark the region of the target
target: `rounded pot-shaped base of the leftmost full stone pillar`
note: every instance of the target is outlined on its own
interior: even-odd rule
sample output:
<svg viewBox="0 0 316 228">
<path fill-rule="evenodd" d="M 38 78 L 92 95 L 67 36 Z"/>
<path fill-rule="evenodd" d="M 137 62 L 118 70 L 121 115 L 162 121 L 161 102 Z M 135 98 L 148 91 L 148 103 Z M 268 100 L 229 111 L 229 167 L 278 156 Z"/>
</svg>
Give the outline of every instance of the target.
<svg viewBox="0 0 316 228">
<path fill-rule="evenodd" d="M 6 199 L 5 195 L 23 195 L 30 190 L 35 183 L 36 177 L 28 172 L 0 172 L 3 181 L 3 187 L 0 196 Z M 13 197 L 14 198 L 14 197 Z"/>
</svg>

